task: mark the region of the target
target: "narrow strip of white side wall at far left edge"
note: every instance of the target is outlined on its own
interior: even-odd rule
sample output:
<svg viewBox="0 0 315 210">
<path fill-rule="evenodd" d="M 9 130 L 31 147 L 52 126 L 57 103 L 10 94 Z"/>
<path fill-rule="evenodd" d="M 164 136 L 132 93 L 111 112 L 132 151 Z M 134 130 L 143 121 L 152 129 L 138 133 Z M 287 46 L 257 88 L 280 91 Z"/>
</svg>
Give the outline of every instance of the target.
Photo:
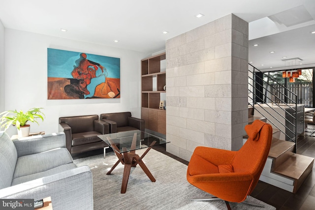
<svg viewBox="0 0 315 210">
<path fill-rule="evenodd" d="M 0 112 L 4 111 L 4 27 L 0 21 Z"/>
</svg>

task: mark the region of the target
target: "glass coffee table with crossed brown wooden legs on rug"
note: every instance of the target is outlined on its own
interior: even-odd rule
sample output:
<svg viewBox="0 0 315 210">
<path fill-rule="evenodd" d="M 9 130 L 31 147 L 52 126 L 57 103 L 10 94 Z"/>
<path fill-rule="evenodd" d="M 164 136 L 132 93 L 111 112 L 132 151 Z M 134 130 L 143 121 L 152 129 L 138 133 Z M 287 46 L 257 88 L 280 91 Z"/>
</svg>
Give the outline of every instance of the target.
<svg viewBox="0 0 315 210">
<path fill-rule="evenodd" d="M 136 167 L 138 164 L 152 182 L 156 181 L 147 166 L 142 161 L 142 158 L 145 157 L 145 155 L 153 146 L 166 144 L 169 143 L 169 141 L 139 130 L 109 133 L 98 135 L 98 137 L 105 141 L 106 144 L 110 145 L 118 157 L 117 162 L 106 174 L 109 175 L 120 162 L 124 165 L 121 193 L 126 193 L 131 167 Z M 139 157 L 135 151 L 143 148 L 147 148 L 147 150 L 141 157 Z"/>
</svg>

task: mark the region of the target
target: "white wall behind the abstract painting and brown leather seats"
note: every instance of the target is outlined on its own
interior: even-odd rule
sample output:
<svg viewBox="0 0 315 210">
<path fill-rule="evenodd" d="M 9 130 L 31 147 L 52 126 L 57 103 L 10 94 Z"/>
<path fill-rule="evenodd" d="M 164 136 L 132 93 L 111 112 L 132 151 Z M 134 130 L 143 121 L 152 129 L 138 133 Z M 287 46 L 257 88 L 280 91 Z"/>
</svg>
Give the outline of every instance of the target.
<svg viewBox="0 0 315 210">
<path fill-rule="evenodd" d="M 31 132 L 58 131 L 59 117 L 131 111 L 141 116 L 140 60 L 144 53 L 63 39 L 25 31 L 5 29 L 5 110 L 43 107 L 46 115 Z M 121 60 L 120 99 L 47 100 L 47 48 L 92 53 Z M 1 59 L 1 58 L 0 58 Z M 14 127 L 9 135 L 17 133 Z"/>
</svg>

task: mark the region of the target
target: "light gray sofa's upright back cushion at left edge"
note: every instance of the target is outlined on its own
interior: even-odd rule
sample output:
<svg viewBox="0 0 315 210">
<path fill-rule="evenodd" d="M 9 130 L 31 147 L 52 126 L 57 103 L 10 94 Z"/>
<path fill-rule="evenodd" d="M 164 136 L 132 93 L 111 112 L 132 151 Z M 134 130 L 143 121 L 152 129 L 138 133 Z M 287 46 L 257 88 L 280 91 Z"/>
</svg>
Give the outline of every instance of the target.
<svg viewBox="0 0 315 210">
<path fill-rule="evenodd" d="M 11 186 L 18 155 L 15 146 L 5 132 L 0 132 L 0 189 Z"/>
</svg>

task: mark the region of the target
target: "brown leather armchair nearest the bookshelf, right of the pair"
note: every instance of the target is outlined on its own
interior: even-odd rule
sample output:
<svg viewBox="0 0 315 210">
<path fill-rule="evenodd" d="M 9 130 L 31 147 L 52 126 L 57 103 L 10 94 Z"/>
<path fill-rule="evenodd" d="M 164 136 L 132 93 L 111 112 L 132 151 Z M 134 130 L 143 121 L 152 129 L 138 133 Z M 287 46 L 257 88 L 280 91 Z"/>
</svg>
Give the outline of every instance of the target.
<svg viewBox="0 0 315 210">
<path fill-rule="evenodd" d="M 110 133 L 145 130 L 145 121 L 131 117 L 131 112 L 100 114 L 99 119 L 109 124 Z"/>
</svg>

